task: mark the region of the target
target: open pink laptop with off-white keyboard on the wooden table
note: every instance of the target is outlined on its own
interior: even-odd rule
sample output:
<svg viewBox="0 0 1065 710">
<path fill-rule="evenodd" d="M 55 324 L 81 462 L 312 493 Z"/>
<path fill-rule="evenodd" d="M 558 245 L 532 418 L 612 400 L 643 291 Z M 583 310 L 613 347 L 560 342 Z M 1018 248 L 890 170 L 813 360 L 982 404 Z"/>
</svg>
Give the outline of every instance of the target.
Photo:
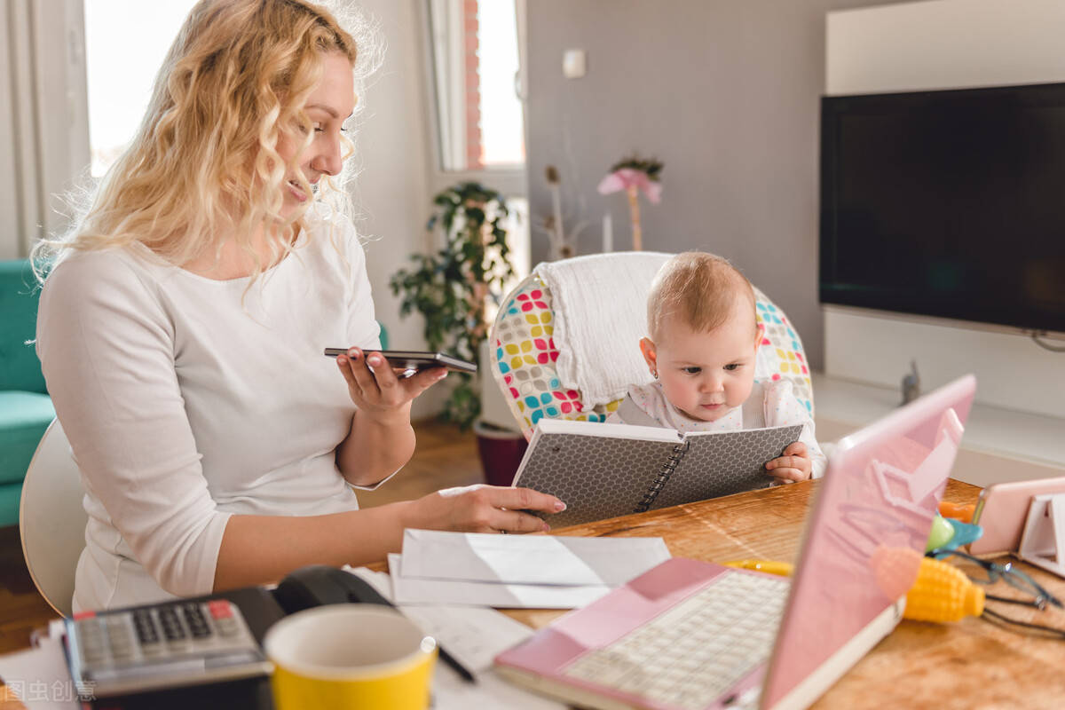
<svg viewBox="0 0 1065 710">
<path fill-rule="evenodd" d="M 807 707 L 902 617 L 974 392 L 965 376 L 838 443 L 792 579 L 674 558 L 498 672 L 591 708 Z"/>
</svg>

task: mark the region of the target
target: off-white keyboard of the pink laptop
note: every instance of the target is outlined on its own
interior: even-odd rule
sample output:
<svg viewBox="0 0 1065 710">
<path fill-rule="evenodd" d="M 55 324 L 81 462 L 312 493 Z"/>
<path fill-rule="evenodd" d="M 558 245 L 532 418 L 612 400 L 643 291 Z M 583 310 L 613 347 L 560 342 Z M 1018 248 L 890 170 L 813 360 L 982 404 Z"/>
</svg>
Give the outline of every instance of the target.
<svg viewBox="0 0 1065 710">
<path fill-rule="evenodd" d="M 677 708 L 705 708 L 769 658 L 789 579 L 724 573 L 562 673 Z"/>
</svg>

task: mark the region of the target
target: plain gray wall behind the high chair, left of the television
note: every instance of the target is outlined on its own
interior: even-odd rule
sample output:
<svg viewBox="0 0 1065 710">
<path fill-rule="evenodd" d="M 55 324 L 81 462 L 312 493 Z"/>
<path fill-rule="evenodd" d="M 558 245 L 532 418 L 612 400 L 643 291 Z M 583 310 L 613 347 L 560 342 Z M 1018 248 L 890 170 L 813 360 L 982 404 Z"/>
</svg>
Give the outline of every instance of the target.
<svg viewBox="0 0 1065 710">
<path fill-rule="evenodd" d="M 600 195 L 633 151 L 666 164 L 662 200 L 641 200 L 648 249 L 728 258 L 802 334 L 823 367 L 817 293 L 819 98 L 824 16 L 884 0 L 530 0 L 528 188 L 532 224 L 552 211 L 547 165 L 561 172 L 567 221 L 592 227 L 578 253 L 632 241 L 624 197 Z M 587 73 L 562 56 L 584 49 Z M 547 253 L 534 232 L 532 263 Z"/>
</svg>

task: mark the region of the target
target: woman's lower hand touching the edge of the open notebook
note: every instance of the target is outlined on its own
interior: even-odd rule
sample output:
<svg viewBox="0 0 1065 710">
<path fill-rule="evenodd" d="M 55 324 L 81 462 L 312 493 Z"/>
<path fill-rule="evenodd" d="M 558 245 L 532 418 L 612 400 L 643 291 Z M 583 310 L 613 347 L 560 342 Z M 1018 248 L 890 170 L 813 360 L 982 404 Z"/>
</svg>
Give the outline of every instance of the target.
<svg viewBox="0 0 1065 710">
<path fill-rule="evenodd" d="M 466 485 L 414 500 L 406 527 L 459 532 L 546 532 L 551 526 L 523 511 L 563 510 L 564 502 L 531 489 Z"/>
</svg>

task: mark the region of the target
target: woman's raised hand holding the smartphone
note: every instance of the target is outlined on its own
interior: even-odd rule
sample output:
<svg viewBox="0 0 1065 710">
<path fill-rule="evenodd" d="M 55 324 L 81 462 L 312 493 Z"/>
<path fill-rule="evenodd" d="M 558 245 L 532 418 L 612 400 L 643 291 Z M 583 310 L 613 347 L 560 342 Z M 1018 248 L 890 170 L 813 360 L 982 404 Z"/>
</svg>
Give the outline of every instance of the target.
<svg viewBox="0 0 1065 710">
<path fill-rule="evenodd" d="M 389 419 L 406 414 L 406 404 L 430 386 L 447 377 L 443 367 L 423 370 L 411 377 L 398 377 L 380 352 L 364 353 L 350 348 L 337 358 L 351 401 L 365 416 Z"/>
</svg>

